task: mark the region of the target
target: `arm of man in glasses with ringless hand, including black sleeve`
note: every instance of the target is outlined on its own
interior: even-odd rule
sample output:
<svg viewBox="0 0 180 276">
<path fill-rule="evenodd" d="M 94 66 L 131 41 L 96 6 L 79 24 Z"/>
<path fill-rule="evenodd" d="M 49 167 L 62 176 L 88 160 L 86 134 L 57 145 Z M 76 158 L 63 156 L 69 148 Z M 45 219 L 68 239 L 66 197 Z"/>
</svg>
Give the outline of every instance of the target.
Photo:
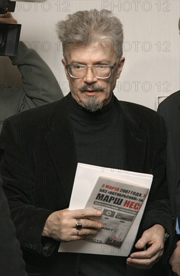
<svg viewBox="0 0 180 276">
<path fill-rule="evenodd" d="M 140 269 L 148 269 L 157 262 L 164 252 L 166 262 L 173 239 L 173 218 L 170 215 L 168 192 L 165 178 L 165 128 L 162 120 L 161 139 L 153 166 L 153 182 L 144 211 L 140 229 L 142 236 L 135 244 L 137 252 L 127 259 L 127 264 Z M 165 232 L 169 237 L 165 247 Z"/>
</svg>

